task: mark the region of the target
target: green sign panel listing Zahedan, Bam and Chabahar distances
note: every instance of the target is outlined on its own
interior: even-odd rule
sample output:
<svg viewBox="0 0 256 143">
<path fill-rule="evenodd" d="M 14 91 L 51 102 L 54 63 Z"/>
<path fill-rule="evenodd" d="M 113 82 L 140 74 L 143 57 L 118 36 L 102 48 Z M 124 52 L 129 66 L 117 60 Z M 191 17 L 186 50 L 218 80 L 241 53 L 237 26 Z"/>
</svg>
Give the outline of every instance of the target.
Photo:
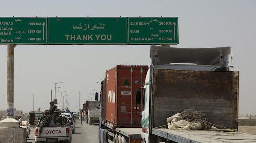
<svg viewBox="0 0 256 143">
<path fill-rule="evenodd" d="M 128 18 L 128 44 L 178 43 L 178 17 Z"/>
</svg>

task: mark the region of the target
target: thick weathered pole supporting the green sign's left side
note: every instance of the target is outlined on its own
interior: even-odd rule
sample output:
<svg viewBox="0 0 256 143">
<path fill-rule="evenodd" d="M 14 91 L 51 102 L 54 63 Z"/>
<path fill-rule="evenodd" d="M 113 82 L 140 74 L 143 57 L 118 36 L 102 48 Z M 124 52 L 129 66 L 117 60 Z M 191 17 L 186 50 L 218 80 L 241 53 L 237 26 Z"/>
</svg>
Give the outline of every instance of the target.
<svg viewBox="0 0 256 143">
<path fill-rule="evenodd" d="M 16 45 L 7 44 L 7 118 L 13 118 L 13 73 L 14 73 L 14 48 Z"/>
</svg>

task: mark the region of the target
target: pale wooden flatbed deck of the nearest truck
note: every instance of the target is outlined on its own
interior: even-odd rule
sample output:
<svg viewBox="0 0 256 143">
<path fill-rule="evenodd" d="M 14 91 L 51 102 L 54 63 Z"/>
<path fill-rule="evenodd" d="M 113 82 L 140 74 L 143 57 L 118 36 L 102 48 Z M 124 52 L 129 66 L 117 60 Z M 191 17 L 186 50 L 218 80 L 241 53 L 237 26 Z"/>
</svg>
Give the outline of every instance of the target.
<svg viewBox="0 0 256 143">
<path fill-rule="evenodd" d="M 152 129 L 152 134 L 177 143 L 256 143 L 256 136 L 242 132 L 219 130 Z"/>
</svg>

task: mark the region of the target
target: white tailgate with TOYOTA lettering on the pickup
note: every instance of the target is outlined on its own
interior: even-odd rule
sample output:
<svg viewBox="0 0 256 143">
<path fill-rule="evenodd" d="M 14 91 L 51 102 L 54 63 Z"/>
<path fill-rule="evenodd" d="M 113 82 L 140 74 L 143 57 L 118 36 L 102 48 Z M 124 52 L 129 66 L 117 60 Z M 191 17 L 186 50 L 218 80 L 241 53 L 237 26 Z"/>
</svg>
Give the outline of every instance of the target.
<svg viewBox="0 0 256 143">
<path fill-rule="evenodd" d="M 41 137 L 66 136 L 66 127 L 44 127 Z"/>
</svg>

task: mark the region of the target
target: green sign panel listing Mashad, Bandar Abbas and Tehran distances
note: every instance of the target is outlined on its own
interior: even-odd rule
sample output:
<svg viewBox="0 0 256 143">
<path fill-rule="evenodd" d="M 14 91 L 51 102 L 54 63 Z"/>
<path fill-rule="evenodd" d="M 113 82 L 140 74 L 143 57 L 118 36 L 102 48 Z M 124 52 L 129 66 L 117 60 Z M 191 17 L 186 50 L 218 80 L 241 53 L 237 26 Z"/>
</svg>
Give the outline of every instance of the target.
<svg viewBox="0 0 256 143">
<path fill-rule="evenodd" d="M 47 44 L 47 18 L 0 18 L 0 44 Z"/>
</svg>

